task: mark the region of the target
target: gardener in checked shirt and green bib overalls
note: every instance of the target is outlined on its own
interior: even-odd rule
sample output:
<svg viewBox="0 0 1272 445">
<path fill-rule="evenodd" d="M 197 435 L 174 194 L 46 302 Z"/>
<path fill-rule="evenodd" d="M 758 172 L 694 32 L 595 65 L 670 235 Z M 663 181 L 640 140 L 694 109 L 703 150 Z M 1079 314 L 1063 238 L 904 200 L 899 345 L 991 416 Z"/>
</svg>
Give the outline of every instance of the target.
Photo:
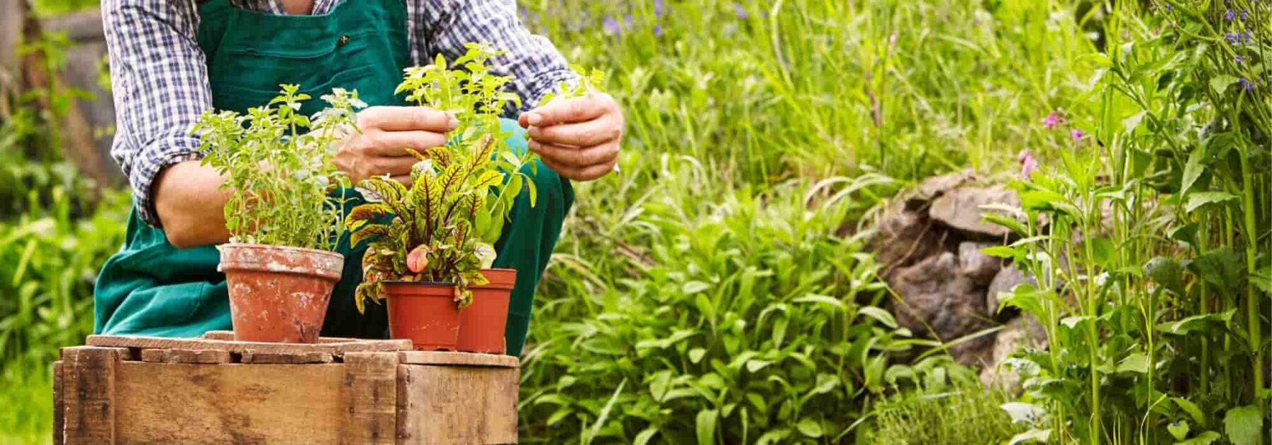
<svg viewBox="0 0 1272 445">
<path fill-rule="evenodd" d="M 508 318 L 508 351 L 519 355 L 534 287 L 574 201 L 569 181 L 597 179 L 614 168 L 623 130 L 605 94 L 538 99 L 575 74 L 547 39 L 530 34 L 515 0 L 104 0 L 118 125 L 111 154 L 132 186 L 134 209 L 120 253 L 107 261 L 95 294 L 97 333 L 192 337 L 230 329 L 225 277 L 215 244 L 229 234 L 221 177 L 200 165 L 190 135 L 209 109 L 240 113 L 266 104 L 279 84 L 299 84 L 317 98 L 356 89 L 371 107 L 359 113 L 361 134 L 343 141 L 336 164 L 351 179 L 388 174 L 408 182 L 415 159 L 406 147 L 441 145 L 454 118 L 404 107 L 393 90 L 402 70 L 438 53 L 455 58 L 464 43 L 508 51 L 494 71 L 514 78 L 525 99 L 510 145 L 528 145 L 551 168 L 538 168 L 538 200 L 522 193 L 496 249 L 495 267 L 518 270 Z M 305 108 L 317 111 L 318 103 Z M 527 144 L 528 136 L 528 144 Z M 341 242 L 343 278 L 327 310 L 324 336 L 382 338 L 384 306 L 354 309 L 365 247 Z"/>
</svg>

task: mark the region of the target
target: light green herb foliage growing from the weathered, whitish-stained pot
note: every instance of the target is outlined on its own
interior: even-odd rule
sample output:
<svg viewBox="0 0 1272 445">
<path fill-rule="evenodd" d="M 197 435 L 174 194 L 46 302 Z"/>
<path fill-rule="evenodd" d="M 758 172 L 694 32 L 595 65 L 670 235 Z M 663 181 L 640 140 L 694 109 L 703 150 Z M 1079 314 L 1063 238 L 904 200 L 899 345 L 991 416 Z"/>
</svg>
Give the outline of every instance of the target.
<svg viewBox="0 0 1272 445">
<path fill-rule="evenodd" d="M 342 229 L 343 206 L 328 201 L 347 177 L 332 164 L 338 141 L 354 126 L 357 92 L 323 95 L 328 108 L 313 118 L 300 113 L 310 97 L 298 85 L 280 85 L 279 97 L 247 114 L 206 111 L 195 125 L 204 165 L 232 191 L 225 205 L 230 242 L 331 250 Z"/>
</svg>

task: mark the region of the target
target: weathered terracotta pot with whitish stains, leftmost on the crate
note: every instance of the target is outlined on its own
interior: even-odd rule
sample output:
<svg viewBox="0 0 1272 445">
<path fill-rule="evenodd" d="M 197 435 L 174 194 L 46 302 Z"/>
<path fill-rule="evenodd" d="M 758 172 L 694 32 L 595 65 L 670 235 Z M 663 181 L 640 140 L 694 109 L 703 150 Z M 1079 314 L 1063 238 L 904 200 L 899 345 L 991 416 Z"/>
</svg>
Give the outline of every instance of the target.
<svg viewBox="0 0 1272 445">
<path fill-rule="evenodd" d="M 230 294 L 234 339 L 318 341 L 345 256 L 282 245 L 225 244 L 221 263 Z"/>
</svg>

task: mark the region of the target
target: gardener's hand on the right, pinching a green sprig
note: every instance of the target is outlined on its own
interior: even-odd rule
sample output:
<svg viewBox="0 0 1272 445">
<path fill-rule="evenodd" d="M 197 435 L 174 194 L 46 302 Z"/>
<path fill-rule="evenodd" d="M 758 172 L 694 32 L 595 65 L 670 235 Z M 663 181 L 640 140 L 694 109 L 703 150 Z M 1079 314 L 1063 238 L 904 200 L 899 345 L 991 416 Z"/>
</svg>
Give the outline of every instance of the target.
<svg viewBox="0 0 1272 445">
<path fill-rule="evenodd" d="M 527 128 L 530 150 L 561 177 L 593 181 L 617 169 L 626 121 L 609 94 L 553 100 L 518 122 Z"/>
</svg>

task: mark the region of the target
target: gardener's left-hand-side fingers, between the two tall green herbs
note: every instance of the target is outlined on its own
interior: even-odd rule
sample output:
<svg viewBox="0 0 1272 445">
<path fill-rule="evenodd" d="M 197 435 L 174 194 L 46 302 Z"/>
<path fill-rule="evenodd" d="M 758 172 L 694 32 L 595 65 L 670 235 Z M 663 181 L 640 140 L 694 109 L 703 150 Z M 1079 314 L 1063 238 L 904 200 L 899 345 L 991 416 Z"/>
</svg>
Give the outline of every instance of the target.
<svg viewBox="0 0 1272 445">
<path fill-rule="evenodd" d="M 446 112 L 424 107 L 370 107 L 357 113 L 360 132 L 345 137 L 336 168 L 357 183 L 388 174 L 411 186 L 411 167 L 418 159 L 407 149 L 424 150 L 446 144 L 446 132 L 459 121 Z"/>
</svg>

